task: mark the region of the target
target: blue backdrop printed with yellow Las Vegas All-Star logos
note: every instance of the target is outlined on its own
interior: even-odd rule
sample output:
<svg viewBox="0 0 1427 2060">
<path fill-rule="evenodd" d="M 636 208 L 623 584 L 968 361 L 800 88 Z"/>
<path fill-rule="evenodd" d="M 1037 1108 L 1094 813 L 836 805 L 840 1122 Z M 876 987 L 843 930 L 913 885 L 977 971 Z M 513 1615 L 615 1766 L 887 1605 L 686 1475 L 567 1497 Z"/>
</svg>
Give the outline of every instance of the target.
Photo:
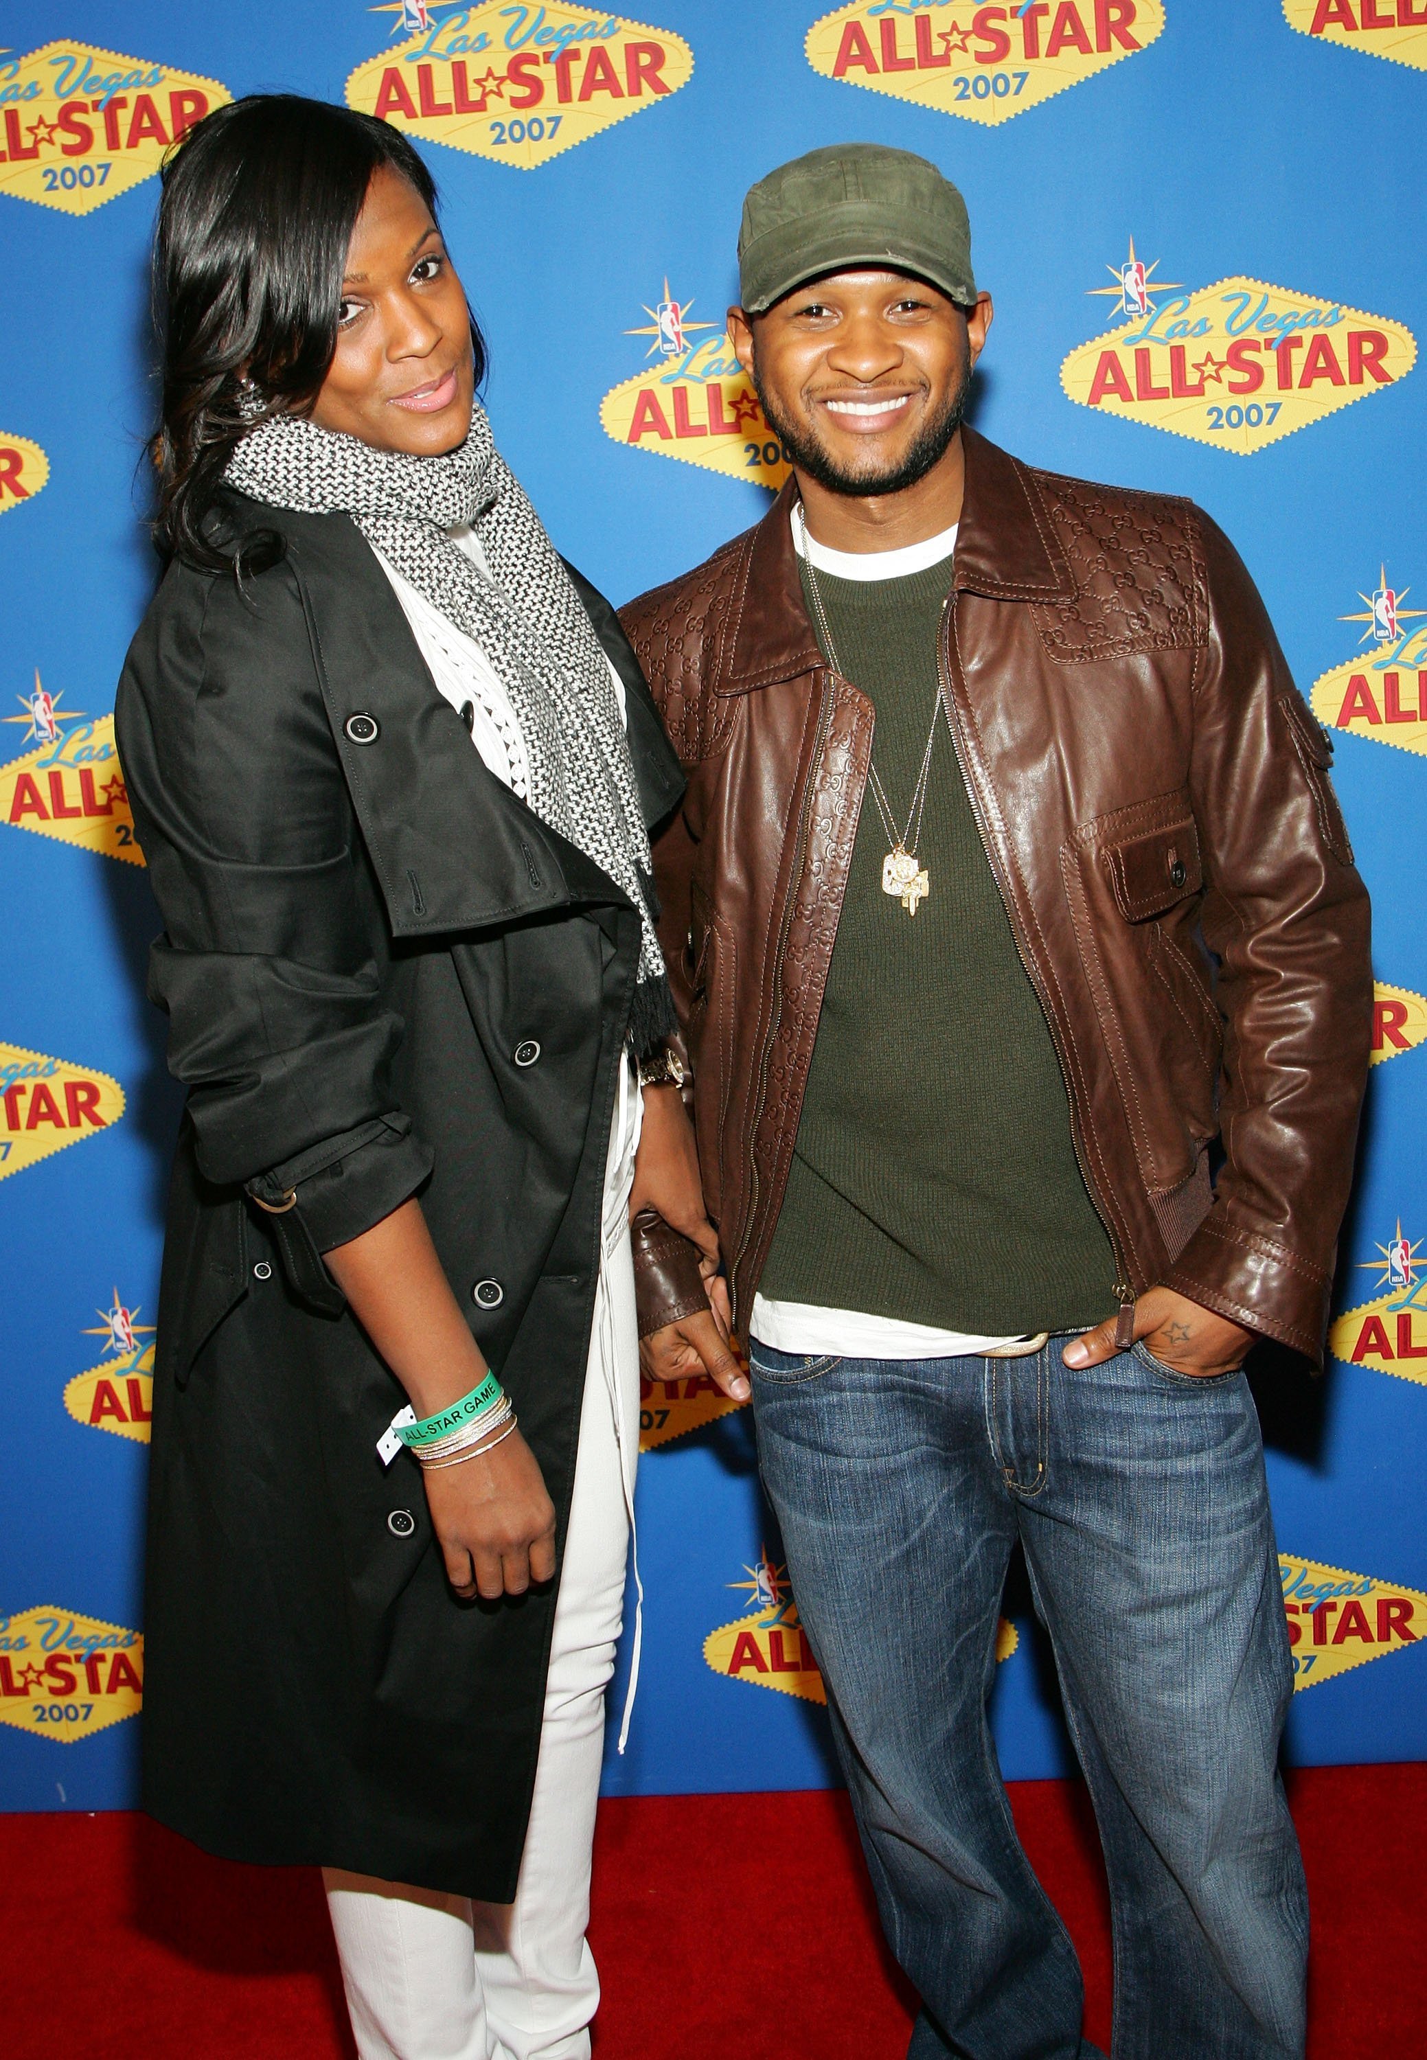
<svg viewBox="0 0 1427 2060">
<path fill-rule="evenodd" d="M 354 87 L 354 97 L 367 91 L 364 105 L 381 91 L 379 72 L 399 66 L 418 134 L 451 119 L 455 138 L 455 115 L 469 117 L 463 144 L 432 142 L 426 157 L 490 342 L 496 437 L 558 548 L 614 599 L 706 556 L 766 507 L 752 414 L 739 418 L 747 441 L 717 435 L 733 381 L 692 414 L 686 406 L 675 418 L 669 402 L 682 375 L 708 383 L 719 330 L 694 323 L 721 323 L 733 299 L 747 183 L 815 144 L 865 138 L 933 157 L 966 192 L 976 274 L 997 301 L 978 426 L 1042 466 L 1190 494 L 1246 556 L 1306 692 L 1332 676 L 1316 707 L 1330 723 L 1343 702 L 1349 709 L 1336 785 L 1373 894 L 1378 978 L 1400 993 L 1382 1011 L 1384 1063 L 1371 1075 L 1338 1296 L 1343 1310 L 1380 1310 L 1378 1327 L 1353 1318 L 1336 1329 L 1338 1355 L 1318 1382 L 1273 1368 L 1260 1384 L 1289 1594 L 1303 1609 L 1324 1586 L 1338 1588 L 1336 1611 L 1312 1623 L 1299 1615 L 1303 1693 L 1289 1749 L 1299 1761 L 1427 1753 L 1427 1660 L 1415 1650 L 1417 1634 L 1427 1636 L 1427 1386 L 1413 1358 L 1427 1345 L 1413 1250 L 1427 1234 L 1427 1057 L 1415 1051 L 1427 1032 L 1417 1001 L 1427 991 L 1417 908 L 1427 764 L 1411 731 L 1413 719 L 1427 731 L 1427 700 L 1413 713 L 1413 599 L 1427 608 L 1413 453 L 1427 381 L 1411 371 L 1413 338 L 1427 323 L 1417 144 L 1427 29 L 1394 31 L 1388 54 L 1382 35 L 1373 43 L 1361 27 L 1355 0 L 1083 0 L 1069 10 L 1060 0 L 869 0 L 838 10 L 805 49 L 813 0 L 661 0 L 657 12 L 655 25 L 628 29 L 618 16 L 556 6 L 45 0 L 8 27 L 25 41 L 0 56 L 0 713 L 16 719 L 0 731 L 10 937 L 0 1040 L 19 1049 L 0 1053 L 0 1084 L 14 1090 L 0 1129 L 10 1255 L 0 1807 L 107 1809 L 134 1798 L 140 1720 L 128 1714 L 136 1695 L 113 1652 L 138 1669 L 140 1648 L 126 1634 L 142 1629 L 152 1343 L 142 1327 L 154 1316 L 179 1110 L 163 1069 L 163 1022 L 144 1001 L 156 915 L 121 845 L 124 805 L 105 785 L 115 766 L 101 723 L 156 569 L 138 509 L 154 406 L 146 260 L 159 185 L 140 173 L 183 107 L 194 111 L 192 101 L 175 107 L 175 91 L 212 99 L 286 87 L 342 99 L 350 74 L 383 54 L 377 72 L 360 74 L 369 84 Z M 857 35 L 844 33 L 844 19 L 857 21 Z M 570 25 L 593 25 L 593 35 L 570 41 Z M 630 60 L 632 43 L 661 56 Z M 37 68 L 31 54 L 45 45 Z M 692 74 L 680 82 L 684 45 Z M 173 74 L 200 84 L 175 87 Z M 43 91 L 29 91 L 35 80 Z M 908 80 L 941 103 L 896 97 Z M 1058 91 L 1046 95 L 1048 82 Z M 402 95 L 385 91 L 387 111 L 402 117 Z M 451 117 L 420 113 L 447 105 Z M 566 148 L 591 115 L 620 119 Z M 554 140 L 544 130 L 556 117 L 556 154 L 521 163 L 540 154 L 533 142 L 544 150 Z M 1157 288 L 1157 278 L 1174 288 Z M 1242 299 L 1240 278 L 1266 295 L 1262 309 Z M 1098 286 L 1110 297 L 1091 299 Z M 657 332 L 661 307 L 663 336 L 632 334 Z M 1170 387 L 1176 307 L 1188 393 Z M 1357 381 L 1347 350 L 1332 354 L 1353 325 L 1384 338 L 1382 348 L 1359 348 Z M 1320 350 L 1303 383 L 1320 330 L 1332 367 Z M 1077 356 L 1102 334 L 1108 344 Z M 1240 350 L 1238 375 L 1225 377 L 1235 334 L 1250 338 L 1250 354 Z M 1303 348 L 1271 358 L 1285 334 Z M 1137 348 L 1147 367 L 1139 387 Z M 1122 367 L 1122 406 L 1104 350 Z M 1262 367 L 1258 387 L 1246 363 Z M 1104 391 L 1089 406 L 1095 373 Z M 638 375 L 659 383 L 669 435 L 645 410 L 630 443 L 628 396 L 638 387 L 626 387 L 624 402 L 616 393 L 605 420 L 601 404 Z M 675 420 L 690 435 L 675 435 Z M 700 443 L 692 431 L 704 422 L 715 435 Z M 1271 428 L 1277 441 L 1254 449 Z M 696 461 L 671 461 L 684 455 L 680 443 Z M 1394 663 L 1400 672 L 1390 674 Z M 1367 700 L 1349 692 L 1351 672 Z M 35 676 L 49 702 L 33 700 Z M 60 1063 L 49 1071 L 51 1059 Z M 82 1090 L 68 1102 L 66 1079 Z M 121 1112 L 107 1079 L 124 1094 Z M 766 1629 L 791 1617 L 747 1413 L 651 1450 L 638 1520 L 645 1675 L 630 1749 L 624 1759 L 612 1753 L 607 1786 L 828 1782 L 822 1710 L 807 1693 L 770 1691 L 809 1683 L 770 1667 Z M 1365 1601 L 1353 1611 L 1359 1592 L 1392 1607 L 1373 1613 Z M 883 1601 L 900 1607 L 896 1592 Z M 1019 1644 L 997 1681 L 1003 1765 L 1007 1776 L 1054 1774 L 1067 1747 L 1044 1652 L 1015 1594 L 1009 1609 Z M 731 1675 L 731 1642 L 723 1658 L 715 1650 L 717 1664 L 704 1642 L 741 1617 L 756 1619 L 758 1658 L 745 1648 Z M 68 1673 L 51 1664 L 66 1652 Z"/>
</svg>

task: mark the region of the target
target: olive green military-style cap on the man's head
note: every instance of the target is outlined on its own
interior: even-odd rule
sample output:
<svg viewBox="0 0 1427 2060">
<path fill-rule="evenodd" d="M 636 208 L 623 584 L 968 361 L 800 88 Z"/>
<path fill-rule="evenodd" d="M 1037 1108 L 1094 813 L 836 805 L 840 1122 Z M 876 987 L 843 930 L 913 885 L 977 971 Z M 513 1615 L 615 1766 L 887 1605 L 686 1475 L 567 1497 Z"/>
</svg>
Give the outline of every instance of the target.
<svg viewBox="0 0 1427 2060">
<path fill-rule="evenodd" d="M 873 264 L 976 299 L 966 202 L 933 163 L 879 142 L 840 142 L 778 165 L 750 190 L 739 288 L 762 315 L 803 280 Z"/>
</svg>

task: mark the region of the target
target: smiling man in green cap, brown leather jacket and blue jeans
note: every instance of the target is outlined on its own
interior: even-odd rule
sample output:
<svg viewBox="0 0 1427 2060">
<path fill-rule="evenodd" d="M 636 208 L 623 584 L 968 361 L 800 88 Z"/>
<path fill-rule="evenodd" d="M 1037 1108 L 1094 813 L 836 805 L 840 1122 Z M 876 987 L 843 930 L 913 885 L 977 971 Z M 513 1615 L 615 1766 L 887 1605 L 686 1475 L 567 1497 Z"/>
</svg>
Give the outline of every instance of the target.
<svg viewBox="0 0 1427 2060">
<path fill-rule="evenodd" d="M 1209 517 L 962 426 L 990 301 L 935 167 L 780 167 L 739 266 L 793 478 L 624 624 L 688 775 L 655 867 L 704 1197 L 910 2052 L 1093 2052 L 986 1724 L 1019 1541 L 1116 2054 L 1299 2054 L 1242 1362 L 1320 1362 L 1367 1069 L 1330 752 Z M 745 1393 L 647 1271 L 651 1368 Z"/>
</svg>

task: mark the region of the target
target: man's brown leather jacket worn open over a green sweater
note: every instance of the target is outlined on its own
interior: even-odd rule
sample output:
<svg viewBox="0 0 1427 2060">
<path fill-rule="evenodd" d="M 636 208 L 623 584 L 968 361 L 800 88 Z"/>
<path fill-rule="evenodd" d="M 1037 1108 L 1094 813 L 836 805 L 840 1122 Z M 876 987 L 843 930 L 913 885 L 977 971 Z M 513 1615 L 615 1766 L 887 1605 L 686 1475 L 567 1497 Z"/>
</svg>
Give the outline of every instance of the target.
<svg viewBox="0 0 1427 2060">
<path fill-rule="evenodd" d="M 964 437 L 943 692 L 1120 1300 L 1165 1283 L 1320 1360 L 1371 1020 L 1330 744 L 1192 503 Z M 873 742 L 871 702 L 817 651 L 789 507 L 791 484 L 622 610 L 688 772 L 655 873 L 741 1325 Z"/>
</svg>

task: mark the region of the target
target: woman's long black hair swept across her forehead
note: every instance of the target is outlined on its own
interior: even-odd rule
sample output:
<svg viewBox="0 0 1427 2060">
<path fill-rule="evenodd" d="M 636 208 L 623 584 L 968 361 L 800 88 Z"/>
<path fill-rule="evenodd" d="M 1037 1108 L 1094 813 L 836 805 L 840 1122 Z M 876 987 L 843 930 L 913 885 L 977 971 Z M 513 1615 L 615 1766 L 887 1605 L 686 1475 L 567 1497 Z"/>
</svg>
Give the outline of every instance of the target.
<svg viewBox="0 0 1427 2060">
<path fill-rule="evenodd" d="M 233 566 L 210 515 L 239 437 L 303 414 L 338 344 L 342 276 L 383 165 L 437 185 L 399 130 L 297 93 L 253 93 L 196 124 L 163 169 L 154 313 L 163 410 L 154 437 L 159 548 Z M 476 383 L 486 348 L 472 317 Z"/>
</svg>

